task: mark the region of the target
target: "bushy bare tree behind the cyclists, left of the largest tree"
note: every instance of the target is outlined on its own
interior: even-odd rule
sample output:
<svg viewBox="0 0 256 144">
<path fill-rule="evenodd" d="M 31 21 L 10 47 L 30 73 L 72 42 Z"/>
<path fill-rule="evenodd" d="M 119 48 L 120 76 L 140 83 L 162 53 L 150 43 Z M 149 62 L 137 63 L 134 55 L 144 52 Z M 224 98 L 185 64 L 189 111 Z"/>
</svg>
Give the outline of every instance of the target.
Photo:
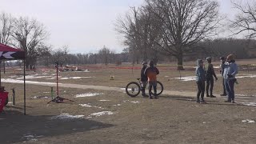
<svg viewBox="0 0 256 144">
<path fill-rule="evenodd" d="M 134 55 L 137 63 L 138 59 L 145 61 L 153 57 L 152 47 L 158 38 L 157 20 L 148 6 L 131 7 L 125 18 L 118 19 L 116 30 L 124 36 L 126 51 Z"/>
</svg>

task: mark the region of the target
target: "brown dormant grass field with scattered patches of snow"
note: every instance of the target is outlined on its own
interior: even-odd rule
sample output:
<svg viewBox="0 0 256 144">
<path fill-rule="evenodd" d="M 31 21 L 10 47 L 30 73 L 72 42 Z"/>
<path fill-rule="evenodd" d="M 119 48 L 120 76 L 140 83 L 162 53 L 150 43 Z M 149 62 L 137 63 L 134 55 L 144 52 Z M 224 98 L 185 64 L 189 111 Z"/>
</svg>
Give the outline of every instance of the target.
<svg viewBox="0 0 256 144">
<path fill-rule="evenodd" d="M 222 78 L 215 69 L 219 80 L 214 83 L 214 95 L 218 98 L 206 98 L 204 105 L 195 102 L 195 95 L 171 94 L 172 90 L 196 92 L 193 80 L 183 81 L 194 76 L 194 62 L 185 62 L 186 70 L 181 72 L 175 70 L 174 63 L 159 64 L 158 80 L 170 94 L 153 100 L 141 95 L 130 98 L 122 90 L 128 82 L 139 78 L 139 65 L 134 69 L 129 65 L 94 65 L 83 66 L 86 72 L 60 72 L 59 82 L 67 86 L 59 87 L 59 95 L 74 100 L 63 103 L 50 102 L 50 87 L 56 91 L 54 68 L 38 67 L 36 72 L 26 72 L 26 81 L 53 84 L 26 83 L 26 115 L 23 115 L 23 85 L 15 83 L 22 80 L 22 71 L 14 67 L 6 69 L 6 74 L 2 73 L 2 86 L 10 96 L 10 89 L 15 88 L 16 104 L 9 103 L 0 114 L 0 143 L 255 143 L 256 72 L 252 64 L 256 60 L 237 63 L 238 104 L 225 103 L 225 98 L 219 96 Z M 114 80 L 110 80 L 110 75 Z M 86 86 L 120 90 L 86 89 Z"/>
</svg>

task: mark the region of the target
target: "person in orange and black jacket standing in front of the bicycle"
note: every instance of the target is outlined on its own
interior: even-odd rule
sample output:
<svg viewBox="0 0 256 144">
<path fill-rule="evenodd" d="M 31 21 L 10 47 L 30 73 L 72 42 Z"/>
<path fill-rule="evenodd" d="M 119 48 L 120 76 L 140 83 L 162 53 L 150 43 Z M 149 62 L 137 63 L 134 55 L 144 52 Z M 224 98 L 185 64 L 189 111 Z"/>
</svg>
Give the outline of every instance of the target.
<svg viewBox="0 0 256 144">
<path fill-rule="evenodd" d="M 152 86 L 154 89 L 154 98 L 158 98 L 157 97 L 157 74 L 159 74 L 159 70 L 158 68 L 156 68 L 154 66 L 154 62 L 151 60 L 150 61 L 150 67 L 147 67 L 144 74 L 147 76 L 148 78 L 148 82 L 149 82 L 149 94 L 150 94 L 150 99 L 152 99 Z"/>
</svg>

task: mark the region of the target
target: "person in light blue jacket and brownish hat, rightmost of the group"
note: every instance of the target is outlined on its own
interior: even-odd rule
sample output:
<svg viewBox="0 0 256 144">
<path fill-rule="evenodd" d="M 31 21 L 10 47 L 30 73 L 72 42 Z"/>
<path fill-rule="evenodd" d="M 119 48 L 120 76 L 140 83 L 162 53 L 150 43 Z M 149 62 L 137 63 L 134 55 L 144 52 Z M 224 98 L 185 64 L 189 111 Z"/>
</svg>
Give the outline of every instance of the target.
<svg viewBox="0 0 256 144">
<path fill-rule="evenodd" d="M 223 77 L 225 83 L 226 93 L 228 98 L 225 102 L 234 102 L 234 82 L 236 82 L 235 75 L 238 74 L 238 65 L 235 63 L 234 55 L 230 54 L 226 57 L 226 62 L 222 64 Z"/>
</svg>

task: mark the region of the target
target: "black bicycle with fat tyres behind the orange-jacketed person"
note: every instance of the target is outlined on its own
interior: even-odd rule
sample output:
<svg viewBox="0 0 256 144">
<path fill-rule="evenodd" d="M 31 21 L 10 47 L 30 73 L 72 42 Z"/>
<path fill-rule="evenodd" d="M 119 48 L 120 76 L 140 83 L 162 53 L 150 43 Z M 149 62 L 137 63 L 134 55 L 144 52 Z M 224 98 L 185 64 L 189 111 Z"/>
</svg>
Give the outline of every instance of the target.
<svg viewBox="0 0 256 144">
<path fill-rule="evenodd" d="M 140 78 L 137 78 L 138 82 L 129 82 L 126 85 L 126 94 L 128 94 L 130 97 L 136 97 L 142 90 L 142 82 L 140 81 Z M 157 81 L 157 96 L 162 94 L 163 91 L 163 85 L 162 82 Z"/>
</svg>

